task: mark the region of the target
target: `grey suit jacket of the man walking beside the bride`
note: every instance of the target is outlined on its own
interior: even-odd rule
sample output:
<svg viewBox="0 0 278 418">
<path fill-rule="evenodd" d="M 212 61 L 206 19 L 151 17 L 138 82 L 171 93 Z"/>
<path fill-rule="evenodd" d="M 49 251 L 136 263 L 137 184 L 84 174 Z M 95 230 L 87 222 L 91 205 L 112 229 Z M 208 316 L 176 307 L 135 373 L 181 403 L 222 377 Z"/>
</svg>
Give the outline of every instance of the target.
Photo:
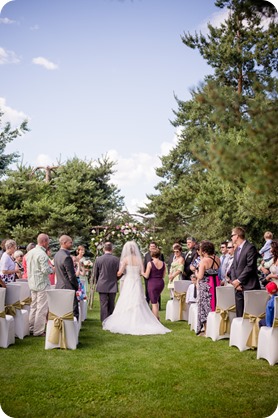
<svg viewBox="0 0 278 418">
<path fill-rule="evenodd" d="M 111 253 L 97 257 L 94 268 L 96 291 L 99 293 L 117 293 L 120 259 Z"/>
</svg>

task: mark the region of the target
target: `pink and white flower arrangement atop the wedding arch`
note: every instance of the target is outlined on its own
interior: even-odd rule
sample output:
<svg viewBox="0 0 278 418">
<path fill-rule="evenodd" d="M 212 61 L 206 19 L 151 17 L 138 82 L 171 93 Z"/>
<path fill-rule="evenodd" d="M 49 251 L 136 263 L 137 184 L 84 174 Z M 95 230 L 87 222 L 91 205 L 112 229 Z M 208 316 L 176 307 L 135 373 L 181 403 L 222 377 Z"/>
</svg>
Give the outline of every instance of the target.
<svg viewBox="0 0 278 418">
<path fill-rule="evenodd" d="M 117 255 L 120 255 L 122 247 L 127 241 L 136 241 L 142 252 L 148 250 L 151 241 L 157 242 L 158 245 L 165 244 L 164 239 L 161 240 L 143 224 L 133 222 L 127 222 L 123 225 L 110 224 L 98 231 L 93 229 L 92 234 L 90 247 L 95 257 L 102 254 L 103 246 L 107 241 L 114 244 Z"/>
</svg>

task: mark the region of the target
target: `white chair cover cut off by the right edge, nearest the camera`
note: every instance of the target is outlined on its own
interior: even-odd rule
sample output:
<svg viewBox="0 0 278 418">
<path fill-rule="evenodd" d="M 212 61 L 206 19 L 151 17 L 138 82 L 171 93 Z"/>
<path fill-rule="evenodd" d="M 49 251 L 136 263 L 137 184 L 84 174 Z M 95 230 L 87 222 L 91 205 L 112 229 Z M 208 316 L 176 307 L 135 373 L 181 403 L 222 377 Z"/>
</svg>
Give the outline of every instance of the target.
<svg viewBox="0 0 278 418">
<path fill-rule="evenodd" d="M 272 327 L 261 327 L 258 339 L 257 359 L 264 358 L 270 366 L 278 363 L 278 296 L 274 300 Z"/>
</svg>

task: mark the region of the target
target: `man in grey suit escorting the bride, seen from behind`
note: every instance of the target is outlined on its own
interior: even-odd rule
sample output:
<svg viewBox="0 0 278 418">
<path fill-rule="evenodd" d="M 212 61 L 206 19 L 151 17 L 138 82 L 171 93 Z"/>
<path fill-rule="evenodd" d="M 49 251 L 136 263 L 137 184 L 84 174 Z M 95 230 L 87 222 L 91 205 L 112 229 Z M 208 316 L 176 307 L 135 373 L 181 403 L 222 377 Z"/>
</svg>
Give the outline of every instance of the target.
<svg viewBox="0 0 278 418">
<path fill-rule="evenodd" d="M 96 259 L 94 267 L 94 278 L 97 283 L 96 291 L 99 293 L 101 322 L 114 311 L 118 291 L 117 272 L 120 267 L 120 259 L 112 254 L 113 246 L 111 242 L 106 242 L 103 250 L 104 254 Z"/>
</svg>

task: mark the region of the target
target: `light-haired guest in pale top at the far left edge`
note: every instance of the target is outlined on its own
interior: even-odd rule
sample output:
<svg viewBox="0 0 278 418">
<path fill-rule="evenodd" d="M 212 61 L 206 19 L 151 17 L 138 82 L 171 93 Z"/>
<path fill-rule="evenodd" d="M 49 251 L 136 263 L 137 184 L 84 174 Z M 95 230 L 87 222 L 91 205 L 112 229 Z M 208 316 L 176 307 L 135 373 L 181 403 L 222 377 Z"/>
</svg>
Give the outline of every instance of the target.
<svg viewBox="0 0 278 418">
<path fill-rule="evenodd" d="M 0 260 L 1 282 L 10 283 L 15 281 L 15 275 L 19 271 L 18 265 L 15 263 L 13 258 L 16 249 L 16 242 L 12 239 L 7 239 L 5 242 L 5 252 Z"/>
</svg>

